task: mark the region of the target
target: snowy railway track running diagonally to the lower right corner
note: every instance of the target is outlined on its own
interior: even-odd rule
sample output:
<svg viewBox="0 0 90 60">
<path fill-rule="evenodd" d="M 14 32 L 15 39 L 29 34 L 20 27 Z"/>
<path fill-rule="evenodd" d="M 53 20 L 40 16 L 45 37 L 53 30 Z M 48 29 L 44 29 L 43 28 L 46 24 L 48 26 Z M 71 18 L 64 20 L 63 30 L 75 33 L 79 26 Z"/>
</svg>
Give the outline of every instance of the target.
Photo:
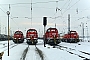
<svg viewBox="0 0 90 60">
<path fill-rule="evenodd" d="M 76 50 L 76 49 L 73 49 L 73 48 L 70 48 L 70 47 L 60 46 L 60 45 L 57 45 L 57 46 L 54 46 L 54 47 L 57 48 L 57 49 L 66 51 L 70 54 L 76 55 L 76 56 L 80 57 L 83 60 L 90 60 L 90 53 L 88 53 L 88 52 L 84 52 L 84 51 L 81 51 L 81 50 Z"/>
</svg>

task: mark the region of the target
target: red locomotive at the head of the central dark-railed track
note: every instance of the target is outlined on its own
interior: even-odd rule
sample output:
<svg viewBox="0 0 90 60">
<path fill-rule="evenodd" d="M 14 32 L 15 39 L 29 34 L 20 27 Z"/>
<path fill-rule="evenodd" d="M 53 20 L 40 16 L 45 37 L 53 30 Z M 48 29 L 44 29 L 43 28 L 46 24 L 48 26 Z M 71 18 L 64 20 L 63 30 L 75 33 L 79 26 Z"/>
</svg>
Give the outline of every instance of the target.
<svg viewBox="0 0 90 60">
<path fill-rule="evenodd" d="M 27 44 L 36 44 L 38 41 L 38 33 L 35 29 L 28 29 L 26 33 Z"/>
</svg>

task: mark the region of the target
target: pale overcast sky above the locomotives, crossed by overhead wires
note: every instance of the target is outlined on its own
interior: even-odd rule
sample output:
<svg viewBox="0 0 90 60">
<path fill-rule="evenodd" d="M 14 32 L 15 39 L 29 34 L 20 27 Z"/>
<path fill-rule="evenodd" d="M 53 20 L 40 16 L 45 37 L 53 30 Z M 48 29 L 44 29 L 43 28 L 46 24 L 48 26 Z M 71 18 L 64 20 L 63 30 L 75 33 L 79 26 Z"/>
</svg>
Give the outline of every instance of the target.
<svg viewBox="0 0 90 60">
<path fill-rule="evenodd" d="M 89 0 L 32 0 L 32 12 L 31 0 L 0 0 L 0 29 L 2 34 L 7 34 L 6 12 L 10 11 L 10 34 L 16 30 L 21 30 L 25 34 L 29 28 L 35 28 L 42 36 L 43 17 L 47 17 L 46 29 L 55 27 L 56 24 L 59 33 L 67 33 L 68 14 L 70 14 L 71 30 L 76 30 L 82 35 L 82 23 L 84 23 L 85 35 L 90 35 L 89 10 Z"/>
</svg>

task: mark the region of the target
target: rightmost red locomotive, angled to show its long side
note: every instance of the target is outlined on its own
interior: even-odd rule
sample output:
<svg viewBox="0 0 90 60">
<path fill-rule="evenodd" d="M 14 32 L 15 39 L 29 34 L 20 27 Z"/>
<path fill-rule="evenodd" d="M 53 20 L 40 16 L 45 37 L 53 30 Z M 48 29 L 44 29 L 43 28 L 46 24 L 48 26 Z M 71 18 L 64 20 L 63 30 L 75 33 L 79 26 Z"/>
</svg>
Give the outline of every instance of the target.
<svg viewBox="0 0 90 60">
<path fill-rule="evenodd" d="M 77 43 L 79 42 L 79 35 L 76 31 L 70 31 L 68 34 L 65 34 L 63 36 L 62 41 L 64 42 L 73 42 L 73 43 Z"/>
</svg>

